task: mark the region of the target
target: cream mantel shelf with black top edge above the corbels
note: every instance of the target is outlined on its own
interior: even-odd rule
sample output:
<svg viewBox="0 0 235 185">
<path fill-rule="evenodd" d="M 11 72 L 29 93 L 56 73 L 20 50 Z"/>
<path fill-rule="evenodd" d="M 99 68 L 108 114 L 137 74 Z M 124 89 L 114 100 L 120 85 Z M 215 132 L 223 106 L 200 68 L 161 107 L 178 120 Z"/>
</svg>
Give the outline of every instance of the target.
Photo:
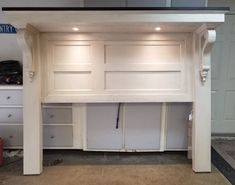
<svg viewBox="0 0 235 185">
<path fill-rule="evenodd" d="M 167 24 L 170 28 L 165 32 L 185 31 L 179 28 L 178 23 L 181 23 L 188 26 L 186 31 L 193 31 L 195 26 L 201 24 L 214 28 L 224 22 L 224 13 L 228 10 L 227 8 L 3 8 L 11 24 L 16 28 L 25 28 L 27 24 L 31 24 L 40 32 L 71 32 L 71 26 L 83 24 L 93 26 L 121 24 L 124 32 L 126 24 L 146 23 Z M 113 31 L 117 31 L 116 28 Z M 136 31 L 141 32 L 141 29 Z"/>
</svg>

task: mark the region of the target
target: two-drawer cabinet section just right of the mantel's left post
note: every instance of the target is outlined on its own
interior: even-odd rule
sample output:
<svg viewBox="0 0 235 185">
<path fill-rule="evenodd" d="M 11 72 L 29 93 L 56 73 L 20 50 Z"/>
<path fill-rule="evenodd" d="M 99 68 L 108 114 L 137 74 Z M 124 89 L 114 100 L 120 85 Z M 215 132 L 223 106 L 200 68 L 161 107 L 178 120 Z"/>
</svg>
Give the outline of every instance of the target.
<svg viewBox="0 0 235 185">
<path fill-rule="evenodd" d="M 44 148 L 74 148 L 72 104 L 43 104 L 42 114 Z"/>
</svg>

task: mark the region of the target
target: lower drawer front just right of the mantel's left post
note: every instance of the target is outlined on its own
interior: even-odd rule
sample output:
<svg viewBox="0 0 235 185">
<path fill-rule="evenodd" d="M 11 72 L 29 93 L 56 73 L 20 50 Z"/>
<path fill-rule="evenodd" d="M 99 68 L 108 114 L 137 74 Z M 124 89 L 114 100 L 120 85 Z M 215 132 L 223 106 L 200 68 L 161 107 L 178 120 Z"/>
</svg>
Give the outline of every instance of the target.
<svg viewBox="0 0 235 185">
<path fill-rule="evenodd" d="M 73 127 L 72 126 L 44 126 L 43 128 L 44 147 L 72 147 Z"/>
</svg>

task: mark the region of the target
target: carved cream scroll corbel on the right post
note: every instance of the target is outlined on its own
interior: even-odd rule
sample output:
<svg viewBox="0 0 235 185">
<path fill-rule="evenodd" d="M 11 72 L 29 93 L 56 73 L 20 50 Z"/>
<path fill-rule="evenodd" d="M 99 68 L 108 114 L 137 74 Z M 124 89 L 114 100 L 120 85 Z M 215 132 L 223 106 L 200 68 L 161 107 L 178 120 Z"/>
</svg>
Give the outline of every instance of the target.
<svg viewBox="0 0 235 185">
<path fill-rule="evenodd" d="M 207 65 L 207 60 L 210 60 L 210 54 L 212 47 L 216 40 L 215 30 L 206 30 L 202 36 L 202 63 L 200 68 L 201 82 L 204 84 L 207 79 L 208 72 L 210 70 L 210 65 Z"/>
</svg>

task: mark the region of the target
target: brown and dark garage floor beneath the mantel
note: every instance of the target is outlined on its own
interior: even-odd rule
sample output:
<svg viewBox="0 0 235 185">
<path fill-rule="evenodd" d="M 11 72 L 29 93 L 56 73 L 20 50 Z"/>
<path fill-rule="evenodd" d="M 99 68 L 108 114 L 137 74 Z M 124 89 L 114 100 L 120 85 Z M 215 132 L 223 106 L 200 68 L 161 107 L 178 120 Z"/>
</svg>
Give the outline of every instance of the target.
<svg viewBox="0 0 235 185">
<path fill-rule="evenodd" d="M 44 151 L 40 176 L 23 176 L 22 159 L 0 167 L 0 185 L 227 185 L 213 167 L 195 174 L 184 152 Z M 9 161 L 8 161 L 9 162 Z"/>
</svg>

